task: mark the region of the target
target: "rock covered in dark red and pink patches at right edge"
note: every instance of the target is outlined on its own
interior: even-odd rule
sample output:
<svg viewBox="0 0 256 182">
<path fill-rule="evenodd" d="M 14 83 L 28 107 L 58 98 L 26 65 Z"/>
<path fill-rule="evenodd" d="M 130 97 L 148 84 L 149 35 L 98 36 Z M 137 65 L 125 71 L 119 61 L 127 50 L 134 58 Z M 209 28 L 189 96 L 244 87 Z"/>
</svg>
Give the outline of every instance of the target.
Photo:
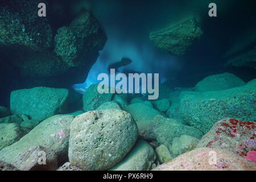
<svg viewBox="0 0 256 182">
<path fill-rule="evenodd" d="M 213 125 L 197 147 L 221 148 L 247 159 L 249 152 L 256 150 L 255 132 L 256 123 L 224 118 Z M 255 158 L 253 162 L 256 162 Z"/>
</svg>

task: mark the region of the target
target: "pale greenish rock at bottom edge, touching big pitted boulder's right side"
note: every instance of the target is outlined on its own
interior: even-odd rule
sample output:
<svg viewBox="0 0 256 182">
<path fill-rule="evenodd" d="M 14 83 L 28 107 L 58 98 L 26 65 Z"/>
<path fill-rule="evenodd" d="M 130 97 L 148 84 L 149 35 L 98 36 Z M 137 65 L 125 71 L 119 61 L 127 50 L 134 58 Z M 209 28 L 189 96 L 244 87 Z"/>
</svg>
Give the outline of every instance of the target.
<svg viewBox="0 0 256 182">
<path fill-rule="evenodd" d="M 144 140 L 138 140 L 131 151 L 109 171 L 148 171 L 155 163 L 153 148 Z"/>
</svg>

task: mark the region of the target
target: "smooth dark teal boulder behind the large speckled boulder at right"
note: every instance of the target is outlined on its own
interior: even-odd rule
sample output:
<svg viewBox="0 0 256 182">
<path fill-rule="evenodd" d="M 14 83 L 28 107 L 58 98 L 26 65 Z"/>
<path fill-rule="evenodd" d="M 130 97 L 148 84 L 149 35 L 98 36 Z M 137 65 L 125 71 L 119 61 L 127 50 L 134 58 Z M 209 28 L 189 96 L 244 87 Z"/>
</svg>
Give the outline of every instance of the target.
<svg viewBox="0 0 256 182">
<path fill-rule="evenodd" d="M 246 82 L 236 77 L 232 73 L 222 73 L 218 75 L 210 75 L 200 81 L 195 86 L 196 92 L 207 92 L 230 89 L 237 86 L 243 86 Z"/>
</svg>

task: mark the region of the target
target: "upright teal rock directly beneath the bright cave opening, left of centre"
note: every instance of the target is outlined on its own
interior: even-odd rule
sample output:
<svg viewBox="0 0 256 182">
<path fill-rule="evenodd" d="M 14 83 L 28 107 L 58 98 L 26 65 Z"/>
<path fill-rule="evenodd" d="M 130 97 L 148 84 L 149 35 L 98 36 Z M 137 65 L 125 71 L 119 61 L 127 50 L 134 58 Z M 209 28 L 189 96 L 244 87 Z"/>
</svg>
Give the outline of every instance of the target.
<svg viewBox="0 0 256 182">
<path fill-rule="evenodd" d="M 98 84 L 92 84 L 89 86 L 88 90 L 82 96 L 82 101 L 84 103 L 84 111 L 90 111 L 97 109 L 98 106 L 104 102 L 112 100 L 113 93 L 98 93 Z"/>
</svg>

